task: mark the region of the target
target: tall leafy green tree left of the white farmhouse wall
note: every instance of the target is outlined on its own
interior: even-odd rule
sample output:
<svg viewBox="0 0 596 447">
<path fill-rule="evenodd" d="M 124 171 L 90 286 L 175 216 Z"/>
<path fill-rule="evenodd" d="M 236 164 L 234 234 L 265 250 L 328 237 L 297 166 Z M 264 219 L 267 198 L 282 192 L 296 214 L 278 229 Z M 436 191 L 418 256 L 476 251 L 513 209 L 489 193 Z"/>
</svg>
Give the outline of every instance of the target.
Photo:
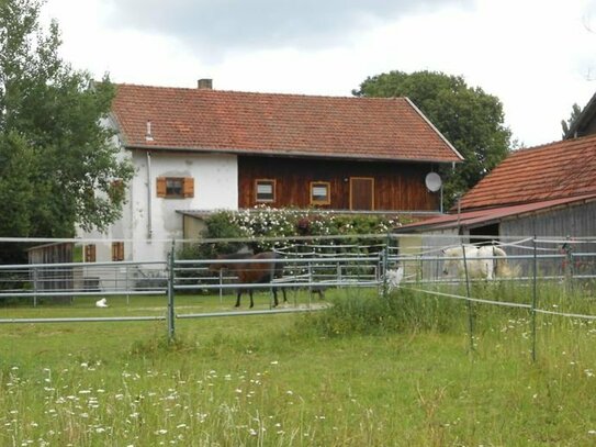
<svg viewBox="0 0 596 447">
<path fill-rule="evenodd" d="M 60 59 L 58 25 L 44 30 L 41 8 L 0 0 L 0 236 L 104 230 L 133 176 L 102 125 L 115 87 Z"/>
</svg>

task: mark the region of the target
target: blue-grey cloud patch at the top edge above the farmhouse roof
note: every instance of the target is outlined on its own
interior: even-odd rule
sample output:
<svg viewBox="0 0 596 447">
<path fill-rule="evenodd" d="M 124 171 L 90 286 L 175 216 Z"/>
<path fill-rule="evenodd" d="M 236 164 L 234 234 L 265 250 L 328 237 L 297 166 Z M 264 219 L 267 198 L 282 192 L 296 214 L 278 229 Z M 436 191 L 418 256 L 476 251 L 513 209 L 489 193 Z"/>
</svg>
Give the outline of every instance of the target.
<svg viewBox="0 0 596 447">
<path fill-rule="evenodd" d="M 117 29 L 176 35 L 204 57 L 230 49 L 340 45 L 371 22 L 471 0 L 106 0 Z"/>
</svg>

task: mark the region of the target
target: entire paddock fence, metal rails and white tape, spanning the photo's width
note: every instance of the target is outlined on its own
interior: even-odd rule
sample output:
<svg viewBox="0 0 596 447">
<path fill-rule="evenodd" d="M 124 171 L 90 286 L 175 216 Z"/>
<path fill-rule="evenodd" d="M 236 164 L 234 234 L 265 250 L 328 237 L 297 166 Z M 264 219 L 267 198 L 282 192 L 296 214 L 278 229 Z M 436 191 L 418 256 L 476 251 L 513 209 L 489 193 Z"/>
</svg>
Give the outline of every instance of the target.
<svg viewBox="0 0 596 447">
<path fill-rule="evenodd" d="M 282 257 L 283 275 L 267 283 L 241 283 L 228 273 L 214 275 L 210 266 L 222 260 L 211 258 L 182 259 L 178 249 L 184 245 L 239 243 L 255 244 L 254 239 L 173 241 L 167 260 L 105 261 L 105 262 L 52 262 L 27 265 L 0 265 L 0 303 L 10 300 L 29 300 L 32 306 L 72 302 L 86 297 L 125 297 L 131 303 L 137 295 L 155 295 L 160 303 L 159 314 L 3 319 L 0 323 L 69 323 L 69 322 L 132 322 L 165 321 L 168 335 L 175 335 L 176 320 L 238 315 L 263 315 L 311 312 L 318 306 L 307 305 L 273 308 L 250 311 L 222 311 L 184 313 L 176 308 L 177 294 L 202 293 L 223 301 L 232 290 L 306 290 L 308 297 L 327 289 L 373 288 L 380 295 L 393 289 L 413 290 L 423 295 L 463 300 L 471 305 L 520 308 L 536 314 L 596 320 L 595 315 L 540 308 L 540 286 L 552 283 L 562 290 L 583 288 L 596 290 L 596 238 L 582 237 L 516 237 L 495 239 L 494 236 L 475 236 L 476 245 L 496 245 L 507 254 L 506 261 L 514 275 L 497 277 L 502 282 L 516 282 L 531 291 L 531 302 L 487 300 L 474 283 L 486 279 L 474 278 L 468 271 L 472 259 L 465 256 L 446 257 L 446 248 L 469 243 L 468 237 L 453 235 L 358 235 L 321 236 L 308 238 L 266 239 Z M 14 241 L 14 239 L 11 239 Z M 0 239 L 2 242 L 2 239 Z M 19 241 L 23 242 L 23 241 Z M 52 241 L 44 241 L 52 242 Z M 59 239 L 55 243 L 85 244 L 80 239 Z M 154 241 L 155 243 L 155 241 Z M 166 243 L 166 242 L 164 242 Z M 486 257 L 495 260 L 494 256 Z M 479 258 L 481 259 L 481 258 Z M 463 273 L 445 271 L 447 261 L 457 260 L 464 266 Z M 246 261 L 246 260 L 243 260 Z M 226 260 L 236 262 L 236 260 Z M 262 260 L 261 260 L 262 262 Z M 269 260 L 271 267 L 275 260 Z M 462 292 L 463 290 L 463 292 Z M 214 298 L 213 298 L 214 297 Z M 472 338 L 472 324 L 470 336 Z"/>
</svg>

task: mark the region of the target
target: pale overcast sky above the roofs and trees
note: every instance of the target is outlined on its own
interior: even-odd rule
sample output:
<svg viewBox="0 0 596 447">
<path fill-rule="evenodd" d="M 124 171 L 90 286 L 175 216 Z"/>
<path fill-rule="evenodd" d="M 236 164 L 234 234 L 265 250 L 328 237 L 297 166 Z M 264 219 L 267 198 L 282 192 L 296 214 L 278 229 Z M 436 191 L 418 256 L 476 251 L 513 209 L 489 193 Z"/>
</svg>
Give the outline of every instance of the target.
<svg viewBox="0 0 596 447">
<path fill-rule="evenodd" d="M 351 96 L 402 70 L 498 97 L 525 146 L 596 92 L 596 0 L 47 0 L 63 57 L 116 82 Z"/>
</svg>

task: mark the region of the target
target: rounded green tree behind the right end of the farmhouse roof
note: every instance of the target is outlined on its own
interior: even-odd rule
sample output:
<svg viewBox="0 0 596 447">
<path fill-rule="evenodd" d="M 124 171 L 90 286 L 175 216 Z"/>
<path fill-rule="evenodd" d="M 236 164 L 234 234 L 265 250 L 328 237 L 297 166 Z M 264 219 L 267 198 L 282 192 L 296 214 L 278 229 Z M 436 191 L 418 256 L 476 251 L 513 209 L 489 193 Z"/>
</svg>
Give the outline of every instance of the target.
<svg viewBox="0 0 596 447">
<path fill-rule="evenodd" d="M 460 76 L 436 71 L 391 71 L 367 78 L 358 97 L 407 97 L 465 158 L 443 168 L 446 204 L 476 185 L 509 153 L 511 132 L 504 125 L 501 101 Z"/>
</svg>

